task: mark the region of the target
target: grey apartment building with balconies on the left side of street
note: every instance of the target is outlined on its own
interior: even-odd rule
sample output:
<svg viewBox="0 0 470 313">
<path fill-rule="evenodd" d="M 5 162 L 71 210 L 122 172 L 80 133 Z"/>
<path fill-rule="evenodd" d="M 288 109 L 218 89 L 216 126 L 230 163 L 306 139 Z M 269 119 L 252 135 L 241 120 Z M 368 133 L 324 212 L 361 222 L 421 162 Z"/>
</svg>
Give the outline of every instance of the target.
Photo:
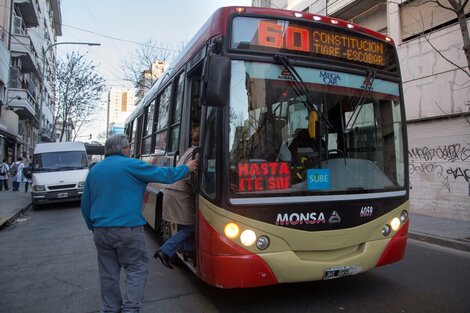
<svg viewBox="0 0 470 313">
<path fill-rule="evenodd" d="M 0 158 L 11 161 L 54 137 L 50 48 L 62 34 L 60 1 L 0 0 L 0 26 Z"/>
</svg>

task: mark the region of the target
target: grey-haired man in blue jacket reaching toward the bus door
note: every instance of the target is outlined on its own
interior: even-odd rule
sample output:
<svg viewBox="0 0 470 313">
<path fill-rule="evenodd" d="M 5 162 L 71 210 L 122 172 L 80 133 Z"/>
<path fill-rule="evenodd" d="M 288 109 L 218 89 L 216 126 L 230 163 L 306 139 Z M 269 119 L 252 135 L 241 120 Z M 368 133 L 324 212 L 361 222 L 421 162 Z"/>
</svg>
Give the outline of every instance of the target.
<svg viewBox="0 0 470 313">
<path fill-rule="evenodd" d="M 93 231 L 101 283 L 100 312 L 140 312 L 143 307 L 149 259 L 145 247 L 141 205 L 150 182 L 170 184 L 196 170 L 195 160 L 174 168 L 159 167 L 129 158 L 125 135 L 105 143 L 106 158 L 88 174 L 81 210 Z M 121 267 L 126 272 L 126 297 L 119 286 Z"/>
</svg>

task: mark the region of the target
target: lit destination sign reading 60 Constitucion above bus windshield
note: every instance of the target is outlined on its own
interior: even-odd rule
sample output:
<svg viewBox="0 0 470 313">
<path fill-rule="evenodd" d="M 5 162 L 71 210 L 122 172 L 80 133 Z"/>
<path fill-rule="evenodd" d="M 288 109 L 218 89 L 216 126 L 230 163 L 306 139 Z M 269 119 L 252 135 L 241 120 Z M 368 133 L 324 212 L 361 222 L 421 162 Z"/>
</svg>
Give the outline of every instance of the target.
<svg viewBox="0 0 470 313">
<path fill-rule="evenodd" d="M 238 19 L 238 18 L 237 18 Z M 242 18 L 234 20 L 234 48 L 266 51 L 293 51 L 351 62 L 385 67 L 391 55 L 389 45 L 379 40 L 354 36 L 334 29 L 323 29 L 288 21 Z M 239 23 L 251 27 L 235 27 Z M 256 20 L 257 23 L 253 23 Z M 250 29 L 250 30 L 249 30 Z"/>
</svg>

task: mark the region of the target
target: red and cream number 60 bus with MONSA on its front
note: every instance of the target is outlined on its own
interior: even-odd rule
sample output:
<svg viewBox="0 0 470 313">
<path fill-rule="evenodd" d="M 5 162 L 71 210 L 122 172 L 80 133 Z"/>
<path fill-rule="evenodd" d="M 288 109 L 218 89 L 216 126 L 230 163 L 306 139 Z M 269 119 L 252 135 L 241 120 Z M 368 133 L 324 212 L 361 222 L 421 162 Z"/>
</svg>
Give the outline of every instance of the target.
<svg viewBox="0 0 470 313">
<path fill-rule="evenodd" d="M 287 10 L 217 10 L 126 121 L 134 157 L 173 166 L 201 129 L 194 251 L 220 288 L 332 279 L 403 258 L 409 183 L 392 39 Z M 163 238 L 165 186 L 143 214 Z M 187 254 L 185 254 L 187 255 Z"/>
</svg>

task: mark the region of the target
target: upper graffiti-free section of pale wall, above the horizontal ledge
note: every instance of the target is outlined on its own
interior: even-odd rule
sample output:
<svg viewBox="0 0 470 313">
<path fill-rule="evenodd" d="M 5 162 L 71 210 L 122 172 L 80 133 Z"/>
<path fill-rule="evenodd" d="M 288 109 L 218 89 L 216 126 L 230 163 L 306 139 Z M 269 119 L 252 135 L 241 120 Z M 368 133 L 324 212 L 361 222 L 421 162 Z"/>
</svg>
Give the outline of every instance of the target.
<svg viewBox="0 0 470 313">
<path fill-rule="evenodd" d="M 466 66 L 458 25 L 430 34 L 430 41 L 446 58 L 461 67 Z M 398 55 L 408 120 L 466 110 L 465 104 L 470 100 L 470 77 L 446 61 L 424 38 L 399 45 Z"/>
</svg>

